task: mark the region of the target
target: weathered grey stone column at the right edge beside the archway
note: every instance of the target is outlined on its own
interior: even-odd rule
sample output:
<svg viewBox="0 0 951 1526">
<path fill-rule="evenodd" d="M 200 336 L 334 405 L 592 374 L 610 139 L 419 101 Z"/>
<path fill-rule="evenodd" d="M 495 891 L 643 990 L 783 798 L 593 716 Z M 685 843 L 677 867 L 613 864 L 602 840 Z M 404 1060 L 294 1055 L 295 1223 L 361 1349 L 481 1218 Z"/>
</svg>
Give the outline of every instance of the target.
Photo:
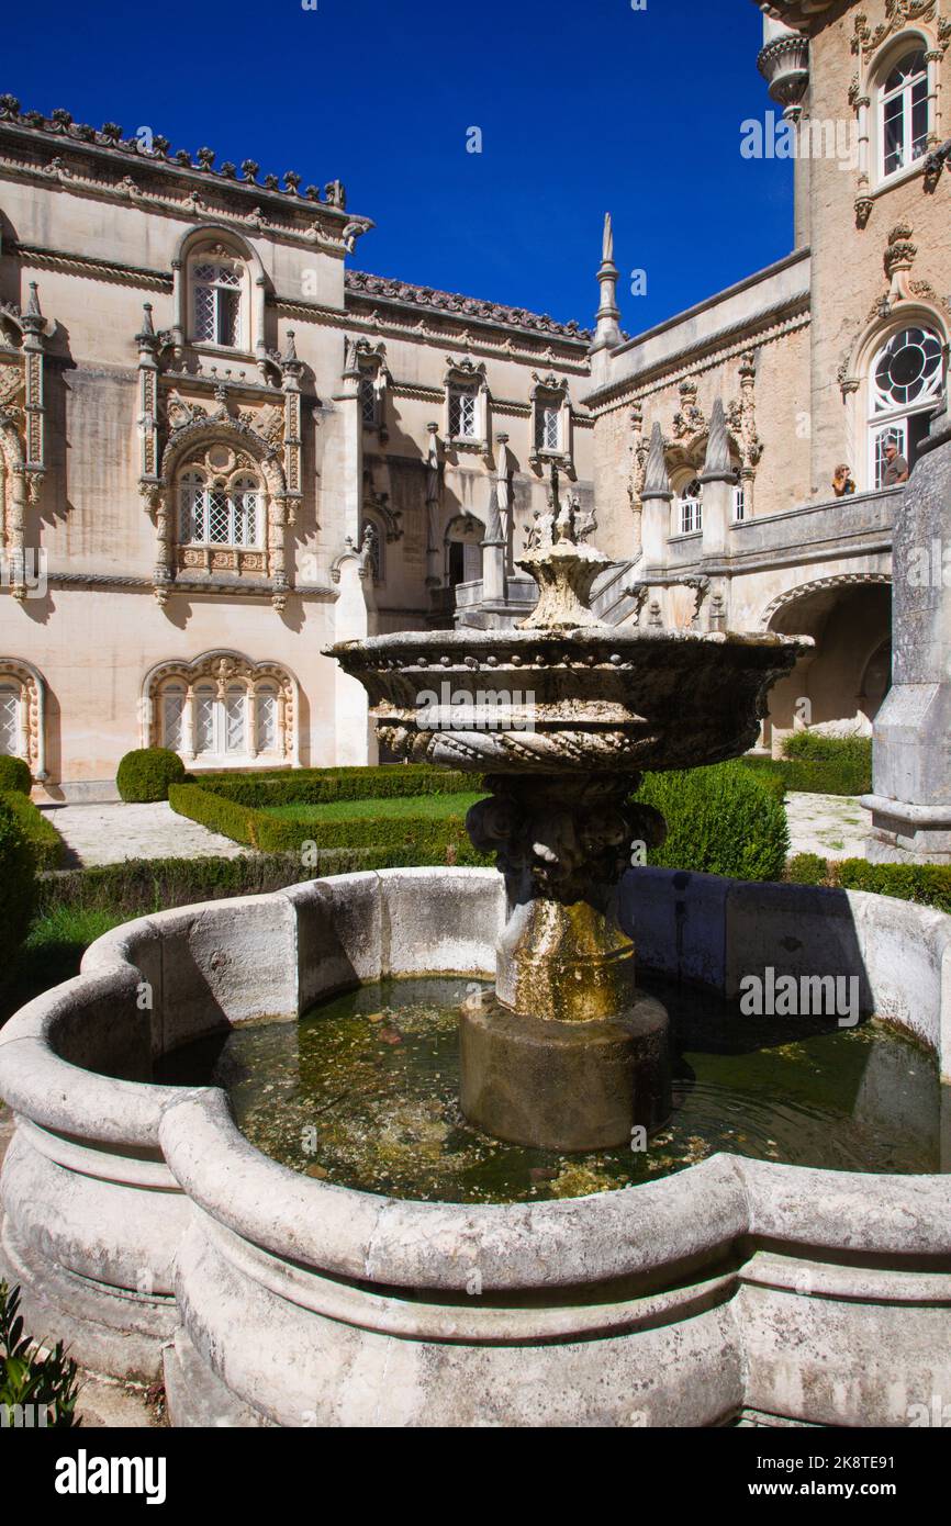
<svg viewBox="0 0 951 1526">
<path fill-rule="evenodd" d="M 951 864 L 951 417 L 931 421 L 895 526 L 891 688 L 875 722 L 866 853 Z M 945 568 L 949 571 L 945 572 Z"/>
</svg>

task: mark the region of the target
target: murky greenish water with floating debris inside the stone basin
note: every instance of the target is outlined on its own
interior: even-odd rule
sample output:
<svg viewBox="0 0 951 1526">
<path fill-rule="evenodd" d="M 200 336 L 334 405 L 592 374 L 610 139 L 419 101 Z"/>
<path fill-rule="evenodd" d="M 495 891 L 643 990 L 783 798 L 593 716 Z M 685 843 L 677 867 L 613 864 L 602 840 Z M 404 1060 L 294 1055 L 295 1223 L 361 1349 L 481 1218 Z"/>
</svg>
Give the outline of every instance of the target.
<svg viewBox="0 0 951 1526">
<path fill-rule="evenodd" d="M 591 1154 L 505 1144 L 463 1116 L 459 1006 L 484 983 L 388 980 L 168 1056 L 157 1080 L 218 1085 L 243 1134 L 293 1170 L 443 1202 L 609 1192 L 731 1151 L 861 1172 L 940 1170 L 940 1085 L 927 1050 L 866 1021 L 753 1018 L 644 974 L 672 1016 L 673 1114 L 650 1140 Z"/>
</svg>

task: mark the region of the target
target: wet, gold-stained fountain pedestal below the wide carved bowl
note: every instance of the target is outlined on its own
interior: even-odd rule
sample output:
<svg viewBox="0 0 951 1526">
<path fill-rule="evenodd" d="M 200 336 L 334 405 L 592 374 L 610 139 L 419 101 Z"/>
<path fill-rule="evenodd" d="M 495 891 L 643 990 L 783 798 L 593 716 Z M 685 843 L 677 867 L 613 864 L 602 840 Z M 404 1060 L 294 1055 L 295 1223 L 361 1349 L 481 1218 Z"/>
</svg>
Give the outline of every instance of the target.
<svg viewBox="0 0 951 1526">
<path fill-rule="evenodd" d="M 463 1112 L 496 1138 L 614 1149 L 670 1114 L 667 1013 L 637 990 L 617 919 L 635 844 L 664 838 L 659 813 L 629 803 L 638 783 L 495 775 L 469 812 L 510 905 L 495 995 L 470 1001 L 459 1030 Z"/>
</svg>

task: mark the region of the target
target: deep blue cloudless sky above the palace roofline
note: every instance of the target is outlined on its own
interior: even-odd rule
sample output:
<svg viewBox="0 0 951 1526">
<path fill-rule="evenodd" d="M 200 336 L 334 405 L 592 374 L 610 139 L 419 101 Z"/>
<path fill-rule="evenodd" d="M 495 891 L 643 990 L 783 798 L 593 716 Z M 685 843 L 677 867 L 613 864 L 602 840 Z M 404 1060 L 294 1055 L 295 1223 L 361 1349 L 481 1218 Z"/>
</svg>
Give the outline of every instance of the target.
<svg viewBox="0 0 951 1526">
<path fill-rule="evenodd" d="M 0 89 L 339 177 L 377 223 L 353 264 L 585 325 L 608 209 L 633 333 L 792 247 L 791 165 L 739 153 L 769 108 L 751 0 L 318 5 L 44 0 L 18 9 Z"/>
</svg>

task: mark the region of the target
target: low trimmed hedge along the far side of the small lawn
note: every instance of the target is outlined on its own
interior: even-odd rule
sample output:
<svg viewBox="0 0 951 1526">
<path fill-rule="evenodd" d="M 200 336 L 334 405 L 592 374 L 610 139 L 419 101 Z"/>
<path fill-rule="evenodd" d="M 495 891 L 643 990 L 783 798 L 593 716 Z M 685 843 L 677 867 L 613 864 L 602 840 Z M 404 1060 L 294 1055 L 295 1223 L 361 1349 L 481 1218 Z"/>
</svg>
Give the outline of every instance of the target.
<svg viewBox="0 0 951 1526">
<path fill-rule="evenodd" d="M 324 806 L 334 800 L 391 800 L 412 795 L 466 795 L 482 789 L 481 774 L 427 763 L 380 768 L 282 769 L 270 774 L 203 774 L 201 789 L 241 806 Z"/>
</svg>

